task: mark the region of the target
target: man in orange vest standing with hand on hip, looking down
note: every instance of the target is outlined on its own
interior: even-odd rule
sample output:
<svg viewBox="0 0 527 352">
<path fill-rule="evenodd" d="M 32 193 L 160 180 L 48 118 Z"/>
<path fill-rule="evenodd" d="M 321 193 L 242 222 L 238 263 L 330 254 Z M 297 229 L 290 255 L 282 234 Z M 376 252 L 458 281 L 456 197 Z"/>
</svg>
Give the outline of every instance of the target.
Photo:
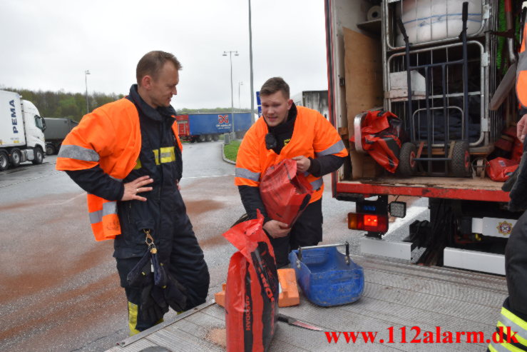
<svg viewBox="0 0 527 352">
<path fill-rule="evenodd" d="M 56 163 L 88 192 L 96 240 L 115 239 L 131 335 L 161 321 L 168 306 L 187 310 L 204 303 L 208 293 L 208 268 L 178 186 L 182 147 L 170 99 L 180 69 L 172 54 L 145 54 L 130 94 L 84 116 L 63 141 Z M 150 263 L 147 239 L 157 247 L 159 266 Z M 141 258 L 148 259 L 144 266 Z M 151 266 L 163 268 L 163 280 L 154 281 Z"/>
</svg>

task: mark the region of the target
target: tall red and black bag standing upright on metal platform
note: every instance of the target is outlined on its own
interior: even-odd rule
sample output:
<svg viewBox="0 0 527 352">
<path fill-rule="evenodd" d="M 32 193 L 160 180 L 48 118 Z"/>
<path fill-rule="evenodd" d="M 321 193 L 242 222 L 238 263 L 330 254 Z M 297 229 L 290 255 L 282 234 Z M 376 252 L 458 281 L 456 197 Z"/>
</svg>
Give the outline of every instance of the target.
<svg viewBox="0 0 527 352">
<path fill-rule="evenodd" d="M 278 315 L 278 273 L 263 216 L 223 233 L 238 251 L 232 255 L 225 288 L 227 352 L 267 351 Z"/>
</svg>

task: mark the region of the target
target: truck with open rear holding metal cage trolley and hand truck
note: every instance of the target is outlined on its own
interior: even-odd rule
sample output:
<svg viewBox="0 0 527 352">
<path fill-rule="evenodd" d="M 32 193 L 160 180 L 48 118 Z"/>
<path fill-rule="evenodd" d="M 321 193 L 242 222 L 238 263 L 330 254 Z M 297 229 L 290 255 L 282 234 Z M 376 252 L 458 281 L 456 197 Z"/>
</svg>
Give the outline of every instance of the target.
<svg viewBox="0 0 527 352">
<path fill-rule="evenodd" d="M 501 131 L 518 119 L 513 89 L 498 111 L 488 109 L 503 70 L 491 34 L 498 1 L 471 0 L 464 15 L 462 1 L 448 2 L 326 1 L 329 120 L 350 154 L 332 191 L 354 203 L 349 228 L 367 231 L 363 253 L 410 260 L 422 248 L 419 263 L 503 275 L 506 241 L 521 213 L 508 210 L 503 183 L 485 176 Z M 382 16 L 368 19 L 374 5 Z M 391 111 L 404 124 L 394 174 L 364 151 L 369 110 Z M 429 218 L 406 223 L 404 241 L 384 239 L 389 216 L 406 213 L 406 202 L 389 196 L 429 200 Z"/>
</svg>

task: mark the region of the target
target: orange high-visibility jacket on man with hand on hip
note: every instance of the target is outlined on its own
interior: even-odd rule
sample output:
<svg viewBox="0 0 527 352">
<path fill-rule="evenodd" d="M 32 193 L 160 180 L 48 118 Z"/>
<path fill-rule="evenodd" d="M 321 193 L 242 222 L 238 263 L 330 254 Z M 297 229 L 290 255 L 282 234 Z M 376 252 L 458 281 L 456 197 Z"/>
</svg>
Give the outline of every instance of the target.
<svg viewBox="0 0 527 352">
<path fill-rule="evenodd" d="M 172 130 L 182 150 L 177 124 Z M 128 99 L 120 99 L 87 114 L 71 130 L 62 142 L 56 169 L 75 171 L 98 165 L 106 174 L 122 181 L 135 167 L 140 149 L 138 111 Z M 88 193 L 88 213 L 96 241 L 121 234 L 116 201 Z"/>
</svg>

